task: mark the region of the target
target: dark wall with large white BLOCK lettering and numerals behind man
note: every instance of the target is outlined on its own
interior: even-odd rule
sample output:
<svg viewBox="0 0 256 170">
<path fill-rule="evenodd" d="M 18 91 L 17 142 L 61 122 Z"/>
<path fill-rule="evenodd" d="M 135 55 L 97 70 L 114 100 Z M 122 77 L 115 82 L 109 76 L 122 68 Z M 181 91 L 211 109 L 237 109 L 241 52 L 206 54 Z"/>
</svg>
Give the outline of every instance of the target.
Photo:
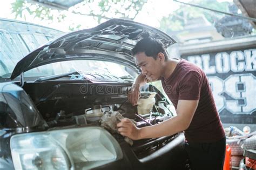
<svg viewBox="0 0 256 170">
<path fill-rule="evenodd" d="M 231 49 L 227 45 L 214 51 L 213 46 L 209 52 L 198 49 L 181 58 L 205 71 L 223 123 L 255 124 L 256 45 Z"/>
</svg>

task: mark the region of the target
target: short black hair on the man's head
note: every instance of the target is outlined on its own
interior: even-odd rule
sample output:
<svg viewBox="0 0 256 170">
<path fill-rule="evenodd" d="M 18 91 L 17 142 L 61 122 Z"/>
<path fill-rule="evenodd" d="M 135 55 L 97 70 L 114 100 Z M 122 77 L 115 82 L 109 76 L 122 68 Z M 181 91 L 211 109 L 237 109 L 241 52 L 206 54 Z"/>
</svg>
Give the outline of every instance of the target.
<svg viewBox="0 0 256 170">
<path fill-rule="evenodd" d="M 145 52 L 147 57 L 153 57 L 154 59 L 157 59 L 158 53 L 162 52 L 164 53 L 165 60 L 168 58 L 165 46 L 159 39 L 143 38 L 139 40 L 132 49 L 132 55 L 134 56 L 140 52 Z"/>
</svg>

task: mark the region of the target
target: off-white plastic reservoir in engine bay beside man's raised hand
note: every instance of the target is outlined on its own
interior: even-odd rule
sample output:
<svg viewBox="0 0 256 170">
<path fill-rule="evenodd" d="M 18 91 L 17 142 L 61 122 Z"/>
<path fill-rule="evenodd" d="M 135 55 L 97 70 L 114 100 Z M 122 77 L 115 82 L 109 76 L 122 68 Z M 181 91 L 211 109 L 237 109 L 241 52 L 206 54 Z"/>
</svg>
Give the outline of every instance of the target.
<svg viewBox="0 0 256 170">
<path fill-rule="evenodd" d="M 152 110 L 153 105 L 156 103 L 156 92 L 140 92 L 138 100 L 138 114 L 147 114 Z"/>
</svg>

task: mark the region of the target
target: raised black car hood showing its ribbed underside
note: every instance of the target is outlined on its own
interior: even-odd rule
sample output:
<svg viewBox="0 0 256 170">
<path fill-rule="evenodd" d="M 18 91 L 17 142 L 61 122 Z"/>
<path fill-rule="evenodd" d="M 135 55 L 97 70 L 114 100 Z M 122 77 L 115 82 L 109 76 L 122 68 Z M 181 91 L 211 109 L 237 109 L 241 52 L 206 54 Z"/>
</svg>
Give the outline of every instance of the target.
<svg viewBox="0 0 256 170">
<path fill-rule="evenodd" d="M 68 33 L 32 51 L 17 63 L 11 79 L 38 66 L 80 59 L 119 63 L 139 72 L 131 50 L 144 37 L 159 39 L 166 47 L 176 43 L 166 33 L 151 26 L 110 19 L 95 28 Z"/>
</svg>

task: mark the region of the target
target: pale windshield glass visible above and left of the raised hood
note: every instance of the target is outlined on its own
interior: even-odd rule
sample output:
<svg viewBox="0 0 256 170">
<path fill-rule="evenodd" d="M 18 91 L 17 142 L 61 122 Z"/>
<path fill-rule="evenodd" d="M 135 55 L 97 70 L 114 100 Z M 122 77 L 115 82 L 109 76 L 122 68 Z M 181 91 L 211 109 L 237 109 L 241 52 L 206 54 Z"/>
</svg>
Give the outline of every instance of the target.
<svg viewBox="0 0 256 170">
<path fill-rule="evenodd" d="M 62 34 L 43 26 L 0 19 L 0 77 L 9 78 L 19 60 Z"/>
</svg>

